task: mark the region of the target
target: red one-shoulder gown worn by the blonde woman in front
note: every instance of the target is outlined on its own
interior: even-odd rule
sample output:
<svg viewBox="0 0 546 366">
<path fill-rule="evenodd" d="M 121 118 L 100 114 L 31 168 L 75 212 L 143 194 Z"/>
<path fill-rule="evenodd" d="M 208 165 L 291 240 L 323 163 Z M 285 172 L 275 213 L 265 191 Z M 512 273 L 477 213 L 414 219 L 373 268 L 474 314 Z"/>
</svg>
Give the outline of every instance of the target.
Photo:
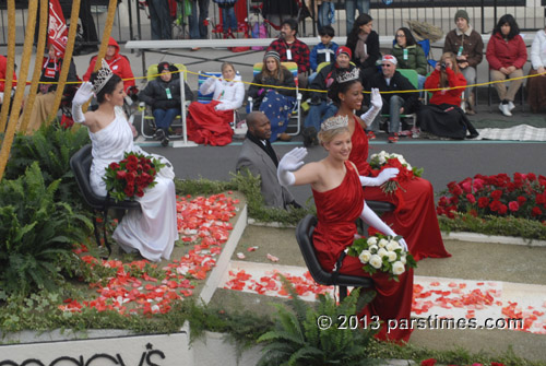
<svg viewBox="0 0 546 366">
<path fill-rule="evenodd" d="M 312 191 L 317 205 L 318 224 L 313 233 L 313 245 L 317 257 L 327 271 L 332 271 L 342 251 L 351 246 L 356 234 L 356 219 L 364 208 L 364 191 L 354 166 L 346 162 L 347 172 L 342 184 L 329 191 Z M 363 270 L 363 263 L 356 257 L 345 257 L 341 273 L 369 278 Z M 410 269 L 399 276 L 399 282 L 389 280 L 384 273 L 372 276 L 377 292 L 373 300 L 358 314 L 368 317 L 367 324 L 373 322 L 375 316 L 384 322 L 410 321 L 413 296 L 413 270 Z M 376 335 L 380 340 L 407 341 L 411 329 L 393 329 L 388 332 L 381 327 Z"/>
</svg>

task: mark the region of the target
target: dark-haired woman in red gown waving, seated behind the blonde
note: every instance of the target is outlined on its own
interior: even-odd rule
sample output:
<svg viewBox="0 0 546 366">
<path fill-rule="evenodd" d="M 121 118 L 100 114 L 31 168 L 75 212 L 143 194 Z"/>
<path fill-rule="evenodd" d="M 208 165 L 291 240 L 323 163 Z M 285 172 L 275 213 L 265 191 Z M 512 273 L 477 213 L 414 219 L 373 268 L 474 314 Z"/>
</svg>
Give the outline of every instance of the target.
<svg viewBox="0 0 546 366">
<path fill-rule="evenodd" d="M 349 161 L 355 163 L 360 176 L 376 177 L 379 170 L 372 169 L 367 162 L 366 122 L 353 113 L 361 107 L 363 85 L 359 79 L 344 78 L 344 80 L 345 82 L 335 82 L 329 93 L 334 103 L 339 105 L 337 115 L 348 117 L 348 129 L 353 142 Z M 379 101 L 372 97 L 370 110 L 363 115 L 370 123 L 377 113 L 381 110 L 381 106 L 375 106 L 373 103 L 380 104 L 380 97 Z M 368 186 L 368 184 L 363 182 L 363 186 Z M 404 237 L 415 260 L 427 257 L 451 257 L 443 247 L 436 216 L 434 190 L 428 180 L 414 178 L 402 182 L 402 189 L 399 188 L 393 194 L 385 194 L 379 186 L 365 187 L 364 197 L 369 201 L 387 201 L 396 206 L 394 211 L 383 213 L 381 219 Z"/>
</svg>

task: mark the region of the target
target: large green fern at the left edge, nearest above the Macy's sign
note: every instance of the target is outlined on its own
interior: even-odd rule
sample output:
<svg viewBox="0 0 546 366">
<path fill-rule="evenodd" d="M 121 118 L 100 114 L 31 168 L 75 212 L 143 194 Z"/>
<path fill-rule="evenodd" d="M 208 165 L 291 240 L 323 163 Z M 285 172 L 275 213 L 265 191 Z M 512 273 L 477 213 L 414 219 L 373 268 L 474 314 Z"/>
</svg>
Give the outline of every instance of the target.
<svg viewBox="0 0 546 366">
<path fill-rule="evenodd" d="M 37 162 L 0 182 L 0 288 L 7 293 L 55 287 L 72 267 L 72 245 L 86 239 L 88 219 L 55 201 L 58 187 L 59 180 L 46 186 Z"/>
</svg>

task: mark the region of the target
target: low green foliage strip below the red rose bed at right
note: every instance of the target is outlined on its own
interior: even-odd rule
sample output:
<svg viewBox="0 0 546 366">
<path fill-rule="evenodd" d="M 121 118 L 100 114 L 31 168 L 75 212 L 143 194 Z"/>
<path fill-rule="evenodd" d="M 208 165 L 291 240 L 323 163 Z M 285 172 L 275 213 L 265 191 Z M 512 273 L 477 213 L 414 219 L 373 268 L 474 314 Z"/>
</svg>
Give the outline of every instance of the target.
<svg viewBox="0 0 546 366">
<path fill-rule="evenodd" d="M 454 214 L 454 219 L 438 216 L 442 232 L 471 232 L 485 235 L 517 236 L 525 239 L 546 240 L 546 225 L 527 219 L 499 217 L 487 215 L 475 217 L 472 214 Z"/>
</svg>

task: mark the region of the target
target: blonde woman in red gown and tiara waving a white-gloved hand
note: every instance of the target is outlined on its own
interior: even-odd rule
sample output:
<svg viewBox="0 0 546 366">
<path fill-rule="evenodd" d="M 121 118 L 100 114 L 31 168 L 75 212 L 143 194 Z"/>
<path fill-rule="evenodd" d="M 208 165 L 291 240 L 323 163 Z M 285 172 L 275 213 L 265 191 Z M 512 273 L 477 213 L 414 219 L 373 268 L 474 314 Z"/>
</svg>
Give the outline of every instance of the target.
<svg viewBox="0 0 546 366">
<path fill-rule="evenodd" d="M 329 122 L 332 125 L 328 126 Z M 301 167 L 307 150 L 296 147 L 281 160 L 277 175 L 284 186 L 311 185 L 318 216 L 313 244 L 322 268 L 332 271 L 344 249 L 355 239 L 357 217 L 363 217 L 387 235 L 396 234 L 364 201 L 358 172 L 348 161 L 352 142 L 346 118 L 333 117 L 323 122 L 319 139 L 329 153 L 325 158 Z M 340 273 L 370 276 L 363 270 L 359 259 L 349 256 L 343 259 Z M 375 316 L 384 322 L 407 321 L 412 309 L 413 270 L 402 273 L 400 282 L 390 280 L 383 272 L 373 274 L 372 279 L 377 295 L 358 316 L 368 317 L 368 326 L 373 323 Z M 380 340 L 407 341 L 411 332 L 411 329 L 388 332 L 383 326 L 376 337 Z"/>
</svg>

